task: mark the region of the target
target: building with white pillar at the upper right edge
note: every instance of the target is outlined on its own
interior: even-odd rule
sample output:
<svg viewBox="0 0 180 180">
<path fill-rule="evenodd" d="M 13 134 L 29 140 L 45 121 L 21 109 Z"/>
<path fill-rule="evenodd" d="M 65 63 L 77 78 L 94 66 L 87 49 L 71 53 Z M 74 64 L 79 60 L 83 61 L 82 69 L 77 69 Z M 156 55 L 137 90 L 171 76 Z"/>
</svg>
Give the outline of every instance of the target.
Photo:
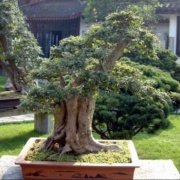
<svg viewBox="0 0 180 180">
<path fill-rule="evenodd" d="M 156 32 L 162 44 L 180 56 L 180 0 L 161 0 L 156 13 L 166 20 L 159 22 Z"/>
</svg>

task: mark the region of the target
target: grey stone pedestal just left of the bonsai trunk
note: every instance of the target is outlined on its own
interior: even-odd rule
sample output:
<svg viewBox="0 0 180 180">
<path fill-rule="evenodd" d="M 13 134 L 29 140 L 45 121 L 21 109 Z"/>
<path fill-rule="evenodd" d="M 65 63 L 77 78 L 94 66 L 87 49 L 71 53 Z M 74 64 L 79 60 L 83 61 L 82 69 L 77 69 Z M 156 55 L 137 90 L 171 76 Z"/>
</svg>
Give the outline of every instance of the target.
<svg viewBox="0 0 180 180">
<path fill-rule="evenodd" d="M 40 133 L 49 133 L 53 130 L 54 121 L 47 113 L 36 113 L 34 115 L 34 129 Z"/>
</svg>

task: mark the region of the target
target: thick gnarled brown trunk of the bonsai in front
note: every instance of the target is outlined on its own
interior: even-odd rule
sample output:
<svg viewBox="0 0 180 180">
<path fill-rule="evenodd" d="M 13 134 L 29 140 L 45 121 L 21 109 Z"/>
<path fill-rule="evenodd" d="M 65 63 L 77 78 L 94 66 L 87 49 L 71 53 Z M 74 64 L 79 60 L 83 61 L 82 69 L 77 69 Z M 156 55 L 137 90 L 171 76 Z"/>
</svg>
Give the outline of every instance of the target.
<svg viewBox="0 0 180 180">
<path fill-rule="evenodd" d="M 103 145 L 92 136 L 92 119 L 95 100 L 92 97 L 73 97 L 61 104 L 59 112 L 54 114 L 54 134 L 49 137 L 42 149 L 54 150 L 63 154 L 118 150 L 114 145 Z"/>
</svg>

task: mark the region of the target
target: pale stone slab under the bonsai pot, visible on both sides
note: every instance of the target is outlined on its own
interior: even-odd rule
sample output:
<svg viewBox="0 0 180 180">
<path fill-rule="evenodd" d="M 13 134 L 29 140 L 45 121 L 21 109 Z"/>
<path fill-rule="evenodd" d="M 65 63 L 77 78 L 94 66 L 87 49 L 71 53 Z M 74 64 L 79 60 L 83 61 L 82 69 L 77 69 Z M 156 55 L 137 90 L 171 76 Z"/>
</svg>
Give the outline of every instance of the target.
<svg viewBox="0 0 180 180">
<path fill-rule="evenodd" d="M 0 179 L 21 180 L 21 168 L 14 164 L 16 156 L 0 159 Z M 140 160 L 134 180 L 180 180 L 180 175 L 171 160 Z"/>
</svg>

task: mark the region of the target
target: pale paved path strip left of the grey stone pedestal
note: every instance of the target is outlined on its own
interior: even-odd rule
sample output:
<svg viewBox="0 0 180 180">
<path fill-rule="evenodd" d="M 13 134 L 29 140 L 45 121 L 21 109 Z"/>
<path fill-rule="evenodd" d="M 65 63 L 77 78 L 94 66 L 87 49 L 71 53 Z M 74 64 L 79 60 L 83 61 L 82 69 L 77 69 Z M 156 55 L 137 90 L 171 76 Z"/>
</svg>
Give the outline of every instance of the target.
<svg viewBox="0 0 180 180">
<path fill-rule="evenodd" d="M 34 114 L 0 117 L 0 123 L 28 122 L 34 120 Z"/>
</svg>

